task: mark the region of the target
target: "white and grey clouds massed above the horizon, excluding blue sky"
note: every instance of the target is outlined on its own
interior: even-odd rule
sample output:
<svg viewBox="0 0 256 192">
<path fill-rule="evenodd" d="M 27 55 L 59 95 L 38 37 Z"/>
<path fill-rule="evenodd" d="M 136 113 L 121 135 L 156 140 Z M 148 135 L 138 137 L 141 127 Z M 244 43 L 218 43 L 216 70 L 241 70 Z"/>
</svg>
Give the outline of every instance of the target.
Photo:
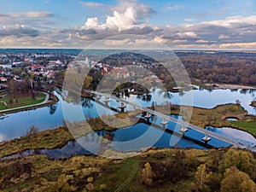
<svg viewBox="0 0 256 192">
<path fill-rule="evenodd" d="M 106 8 L 105 4 L 81 2 L 81 6 L 96 9 Z M 109 8 L 110 9 L 110 8 Z M 182 9 L 173 5 L 168 11 Z M 119 34 L 144 35 L 148 38 L 125 38 L 108 44 L 166 44 L 172 49 L 256 49 L 256 15 L 235 15 L 222 20 L 210 20 L 195 23 L 193 18 L 185 21 L 189 24 L 179 26 L 158 26 L 148 22 L 157 14 L 154 9 L 137 1 L 119 2 L 105 18 L 96 16 L 84 18 L 84 25 L 62 29 L 39 29 L 29 25 L 3 26 L 0 28 L 1 46 L 21 45 L 34 47 L 73 47 L 82 48 L 97 39 Z M 1 20 L 11 18 L 50 18 L 49 12 L 26 12 L 0 15 Z M 172 20 L 172 18 L 170 18 Z M 192 22 L 193 21 L 193 22 Z"/>
</svg>

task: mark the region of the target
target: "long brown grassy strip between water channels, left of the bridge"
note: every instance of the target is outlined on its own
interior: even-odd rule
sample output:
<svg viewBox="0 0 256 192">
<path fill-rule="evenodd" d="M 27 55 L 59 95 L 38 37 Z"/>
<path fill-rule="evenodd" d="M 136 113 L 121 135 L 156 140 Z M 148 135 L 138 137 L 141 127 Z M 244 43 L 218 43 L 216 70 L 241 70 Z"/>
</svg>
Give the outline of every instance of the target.
<svg viewBox="0 0 256 192">
<path fill-rule="evenodd" d="M 127 118 L 128 114 L 129 118 Z M 61 148 L 73 138 L 83 137 L 92 130 L 114 131 L 118 128 L 134 125 L 138 120 L 133 113 L 118 113 L 114 116 L 106 116 L 103 119 L 105 122 L 101 118 L 93 118 L 68 125 L 68 128 L 67 125 L 64 125 L 52 130 L 35 132 L 34 134 L 0 143 L 0 158 L 27 149 Z M 106 124 L 107 122 L 109 125 Z"/>
</svg>

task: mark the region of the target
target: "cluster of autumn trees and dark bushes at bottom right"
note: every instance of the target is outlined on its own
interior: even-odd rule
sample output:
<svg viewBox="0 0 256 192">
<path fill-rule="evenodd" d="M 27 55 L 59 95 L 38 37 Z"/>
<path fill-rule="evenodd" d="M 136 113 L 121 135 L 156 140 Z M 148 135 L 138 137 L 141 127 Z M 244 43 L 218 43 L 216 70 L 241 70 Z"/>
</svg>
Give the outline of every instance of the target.
<svg viewBox="0 0 256 192">
<path fill-rule="evenodd" d="M 160 154 L 154 158 L 162 159 Z M 166 191 L 233 192 L 256 191 L 256 166 L 253 154 L 230 148 L 226 153 L 212 151 L 201 161 L 177 150 L 172 158 L 143 164 L 142 183 Z M 190 183 L 188 184 L 187 182 Z M 170 190 L 166 185 L 173 183 Z M 181 190 L 178 185 L 183 185 Z"/>
</svg>

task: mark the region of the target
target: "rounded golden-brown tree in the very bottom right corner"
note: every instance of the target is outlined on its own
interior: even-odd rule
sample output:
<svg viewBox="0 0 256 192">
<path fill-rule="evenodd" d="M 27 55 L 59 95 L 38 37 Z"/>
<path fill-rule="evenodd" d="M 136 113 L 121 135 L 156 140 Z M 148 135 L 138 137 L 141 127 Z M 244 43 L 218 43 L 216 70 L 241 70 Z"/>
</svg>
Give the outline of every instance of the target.
<svg viewBox="0 0 256 192">
<path fill-rule="evenodd" d="M 245 172 L 239 171 L 232 166 L 224 172 L 224 179 L 221 182 L 221 192 L 254 192 L 256 184 Z"/>
</svg>

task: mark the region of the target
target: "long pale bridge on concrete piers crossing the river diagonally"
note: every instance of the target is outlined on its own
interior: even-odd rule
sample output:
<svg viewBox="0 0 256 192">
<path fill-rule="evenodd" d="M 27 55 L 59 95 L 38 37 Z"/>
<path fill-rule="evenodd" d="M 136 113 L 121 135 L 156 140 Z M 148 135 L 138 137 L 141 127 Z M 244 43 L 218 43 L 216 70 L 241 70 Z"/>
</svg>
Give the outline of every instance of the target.
<svg viewBox="0 0 256 192">
<path fill-rule="evenodd" d="M 143 108 L 143 107 L 141 107 L 141 106 L 139 106 L 135 103 L 128 102 L 128 101 L 126 101 L 122 98 L 119 98 L 119 97 L 116 97 L 116 96 L 113 96 L 113 95 L 109 95 L 109 94 L 106 94 L 106 93 L 94 91 L 94 90 L 84 90 L 84 93 L 94 95 L 96 100 L 99 100 L 101 96 L 104 96 L 105 97 L 104 102 L 106 102 L 106 103 L 109 102 L 109 99 L 113 99 L 117 102 L 120 102 L 120 107 L 119 108 L 121 109 L 122 112 L 124 112 L 124 108 L 125 108 L 125 104 L 126 104 L 126 105 L 132 106 L 133 108 L 137 108 L 137 109 L 142 110 L 143 112 L 146 112 L 146 115 L 144 117 L 147 118 L 147 119 L 149 119 L 151 117 L 150 114 L 158 116 L 158 117 L 163 119 L 162 122 L 161 122 L 161 125 L 163 125 L 163 126 L 165 126 L 168 123 L 168 121 L 172 121 L 172 122 L 176 123 L 177 125 L 182 125 L 182 128 L 179 131 L 182 132 L 183 134 L 186 131 L 189 131 L 188 129 L 201 132 L 201 133 L 205 134 L 205 137 L 203 137 L 201 139 L 205 143 L 209 142 L 212 139 L 211 137 L 215 137 L 215 138 L 217 138 L 219 140 L 222 140 L 226 143 L 230 143 L 231 145 L 234 145 L 236 148 L 244 148 L 244 149 L 248 149 L 250 151 L 256 152 L 256 148 L 255 148 L 256 146 L 255 145 L 251 146 L 250 144 L 245 143 L 244 141 L 241 141 L 239 139 L 236 139 L 236 138 L 233 138 L 233 137 L 226 137 L 224 135 L 220 135 L 216 132 L 209 131 L 209 130 L 206 130 L 206 129 L 201 128 L 199 126 L 189 124 L 188 122 L 185 122 L 181 119 L 172 118 L 169 115 L 154 111 L 150 108 Z"/>
</svg>

